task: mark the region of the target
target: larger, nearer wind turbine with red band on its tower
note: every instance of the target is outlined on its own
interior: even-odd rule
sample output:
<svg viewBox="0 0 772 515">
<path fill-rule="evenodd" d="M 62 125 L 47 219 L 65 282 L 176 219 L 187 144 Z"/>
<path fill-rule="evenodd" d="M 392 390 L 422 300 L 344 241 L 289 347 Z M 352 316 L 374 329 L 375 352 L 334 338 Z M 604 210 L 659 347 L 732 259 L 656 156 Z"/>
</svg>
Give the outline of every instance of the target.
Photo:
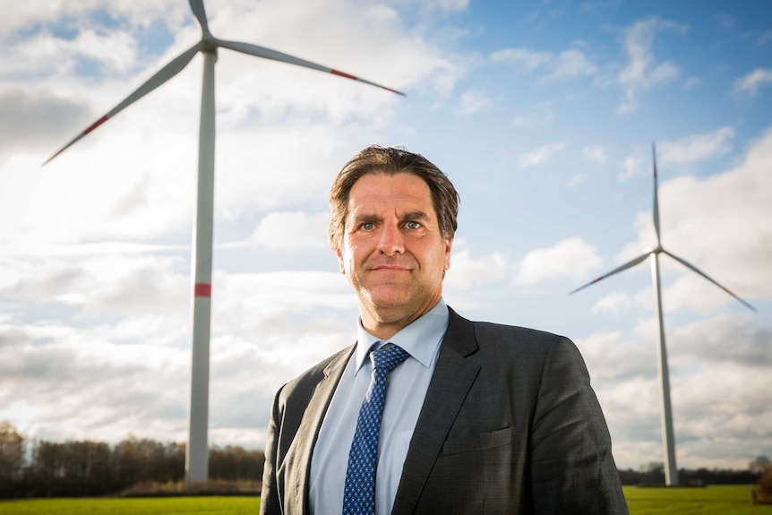
<svg viewBox="0 0 772 515">
<path fill-rule="evenodd" d="M 137 88 L 90 124 L 82 133 L 73 138 L 60 150 L 43 163 L 45 166 L 64 150 L 91 132 L 99 125 L 116 116 L 126 107 L 142 99 L 150 91 L 180 73 L 199 52 L 203 55 L 203 81 L 201 101 L 201 122 L 199 125 L 199 153 L 197 177 L 196 219 L 193 227 L 193 356 L 191 367 L 191 398 L 189 412 L 189 433 L 185 472 L 189 482 L 206 481 L 209 475 L 209 450 L 207 432 L 209 425 L 209 356 L 210 356 L 210 305 L 211 305 L 211 265 L 212 265 L 212 227 L 214 213 L 214 144 L 215 144 L 215 102 L 214 102 L 214 65 L 217 62 L 219 47 L 241 52 L 249 56 L 262 57 L 287 64 L 296 64 L 320 72 L 332 73 L 346 79 L 364 82 L 383 90 L 403 95 L 375 82 L 365 81 L 349 73 L 340 72 L 305 59 L 258 47 L 239 41 L 228 41 L 212 36 L 204 11 L 203 0 L 190 0 L 193 16 L 201 28 L 202 38 L 193 47 L 176 56 L 155 73 L 147 82 Z"/>
</svg>

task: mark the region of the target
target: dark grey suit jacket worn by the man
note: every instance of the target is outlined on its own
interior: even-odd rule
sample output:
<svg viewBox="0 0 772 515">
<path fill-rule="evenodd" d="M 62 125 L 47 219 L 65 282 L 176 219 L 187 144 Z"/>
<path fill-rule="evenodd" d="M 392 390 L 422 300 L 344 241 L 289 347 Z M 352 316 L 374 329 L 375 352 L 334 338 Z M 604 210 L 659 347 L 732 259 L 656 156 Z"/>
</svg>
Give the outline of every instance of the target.
<svg viewBox="0 0 772 515">
<path fill-rule="evenodd" d="M 313 446 L 353 350 L 277 394 L 261 513 L 309 512 Z M 627 512 L 605 419 L 576 346 L 546 332 L 469 322 L 450 310 L 392 513 Z"/>
</svg>

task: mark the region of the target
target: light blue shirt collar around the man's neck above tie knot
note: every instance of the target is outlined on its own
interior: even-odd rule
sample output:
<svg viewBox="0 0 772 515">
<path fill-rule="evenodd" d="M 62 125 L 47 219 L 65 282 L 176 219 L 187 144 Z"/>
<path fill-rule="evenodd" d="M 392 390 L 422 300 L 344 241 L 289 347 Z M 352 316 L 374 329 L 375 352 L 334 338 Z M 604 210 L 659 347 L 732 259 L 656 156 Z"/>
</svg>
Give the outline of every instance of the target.
<svg viewBox="0 0 772 515">
<path fill-rule="evenodd" d="M 449 319 L 448 306 L 445 305 L 442 297 L 431 310 L 386 341 L 367 332 L 362 327 L 362 320 L 360 319 L 356 324 L 355 374 L 359 373 L 365 362 L 369 363 L 368 355 L 372 349 L 381 348 L 389 342 L 399 345 L 407 351 L 407 354 L 415 357 L 421 365 L 429 368 L 432 365 L 435 351 L 445 335 L 445 330 L 448 329 Z"/>
</svg>

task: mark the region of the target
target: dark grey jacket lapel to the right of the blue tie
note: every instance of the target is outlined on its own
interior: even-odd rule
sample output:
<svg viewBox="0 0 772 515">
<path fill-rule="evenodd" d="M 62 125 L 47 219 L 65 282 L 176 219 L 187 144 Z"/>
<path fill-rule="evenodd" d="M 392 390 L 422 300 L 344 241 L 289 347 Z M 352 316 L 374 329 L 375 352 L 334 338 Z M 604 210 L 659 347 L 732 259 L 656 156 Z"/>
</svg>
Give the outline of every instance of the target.
<svg viewBox="0 0 772 515">
<path fill-rule="evenodd" d="M 448 330 L 407 451 L 392 513 L 410 513 L 442 450 L 480 366 L 466 358 L 477 349 L 472 323 L 449 308 Z"/>
</svg>

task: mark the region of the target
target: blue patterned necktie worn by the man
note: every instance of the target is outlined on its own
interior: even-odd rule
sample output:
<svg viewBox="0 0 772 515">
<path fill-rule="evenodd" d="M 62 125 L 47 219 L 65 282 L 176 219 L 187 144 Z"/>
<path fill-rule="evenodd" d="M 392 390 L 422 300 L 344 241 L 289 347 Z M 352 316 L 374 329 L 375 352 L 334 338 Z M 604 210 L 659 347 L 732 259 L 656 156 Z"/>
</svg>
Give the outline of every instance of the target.
<svg viewBox="0 0 772 515">
<path fill-rule="evenodd" d="M 373 515 L 375 513 L 375 468 L 378 465 L 378 433 L 381 431 L 386 382 L 391 369 L 407 359 L 405 350 L 396 345 L 370 353 L 373 378 L 367 390 L 356 433 L 348 452 L 346 486 L 343 489 L 343 515 Z"/>
</svg>

